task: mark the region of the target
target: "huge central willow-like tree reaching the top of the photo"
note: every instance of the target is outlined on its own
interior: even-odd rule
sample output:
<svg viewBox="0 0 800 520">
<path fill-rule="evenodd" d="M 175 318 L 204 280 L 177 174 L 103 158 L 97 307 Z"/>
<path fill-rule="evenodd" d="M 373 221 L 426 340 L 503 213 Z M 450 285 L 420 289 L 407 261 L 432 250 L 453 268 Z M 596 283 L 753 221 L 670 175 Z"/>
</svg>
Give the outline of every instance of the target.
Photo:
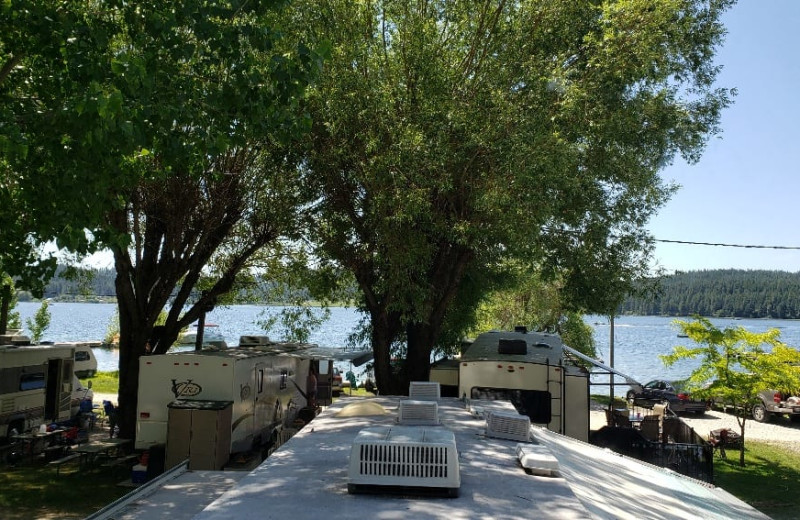
<svg viewBox="0 0 800 520">
<path fill-rule="evenodd" d="M 382 391 L 427 377 L 468 276 L 512 256 L 575 286 L 619 274 L 589 269 L 610 247 L 646 248 L 659 170 L 696 160 L 728 104 L 712 59 L 731 3 L 293 4 L 333 42 L 307 104 L 313 239 L 362 292 Z"/>
</svg>

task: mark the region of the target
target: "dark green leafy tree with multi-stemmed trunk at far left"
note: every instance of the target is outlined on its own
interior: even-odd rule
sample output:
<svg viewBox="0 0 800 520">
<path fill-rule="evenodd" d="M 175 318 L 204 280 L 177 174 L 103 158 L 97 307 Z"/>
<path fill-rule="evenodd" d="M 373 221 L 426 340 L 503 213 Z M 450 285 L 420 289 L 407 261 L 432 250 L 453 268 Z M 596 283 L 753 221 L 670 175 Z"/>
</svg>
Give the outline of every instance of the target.
<svg viewBox="0 0 800 520">
<path fill-rule="evenodd" d="M 307 125 L 298 104 L 320 59 L 281 39 L 281 4 L 2 7 L 15 35 L 2 36 L 0 84 L 9 199 L 30 208 L 35 239 L 114 255 L 123 436 L 162 310 L 156 352 L 298 220 L 297 169 L 281 150 Z"/>
</svg>

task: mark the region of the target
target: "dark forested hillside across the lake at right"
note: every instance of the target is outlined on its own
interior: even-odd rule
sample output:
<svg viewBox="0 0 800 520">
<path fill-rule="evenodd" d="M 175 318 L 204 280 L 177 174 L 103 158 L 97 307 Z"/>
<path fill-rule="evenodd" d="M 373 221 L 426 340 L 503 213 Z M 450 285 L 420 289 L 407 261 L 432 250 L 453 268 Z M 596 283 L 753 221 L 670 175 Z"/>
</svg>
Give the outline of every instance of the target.
<svg viewBox="0 0 800 520">
<path fill-rule="evenodd" d="M 658 294 L 630 298 L 622 314 L 800 318 L 800 273 L 714 270 L 660 279 Z"/>
</svg>

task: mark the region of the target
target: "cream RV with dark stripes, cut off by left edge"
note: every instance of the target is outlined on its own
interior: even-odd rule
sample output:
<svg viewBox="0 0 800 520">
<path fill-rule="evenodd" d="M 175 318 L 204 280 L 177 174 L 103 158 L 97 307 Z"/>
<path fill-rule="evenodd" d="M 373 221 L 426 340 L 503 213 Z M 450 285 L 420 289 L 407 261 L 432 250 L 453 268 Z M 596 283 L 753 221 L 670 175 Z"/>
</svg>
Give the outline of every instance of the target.
<svg viewBox="0 0 800 520">
<path fill-rule="evenodd" d="M 0 346 L 0 438 L 71 417 L 72 347 Z"/>
</svg>

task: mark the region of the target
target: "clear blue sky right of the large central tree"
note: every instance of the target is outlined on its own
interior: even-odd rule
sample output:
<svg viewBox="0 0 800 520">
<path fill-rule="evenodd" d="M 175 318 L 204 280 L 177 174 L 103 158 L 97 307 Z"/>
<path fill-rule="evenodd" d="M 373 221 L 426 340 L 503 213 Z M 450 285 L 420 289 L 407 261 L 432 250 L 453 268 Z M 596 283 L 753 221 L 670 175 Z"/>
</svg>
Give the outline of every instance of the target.
<svg viewBox="0 0 800 520">
<path fill-rule="evenodd" d="M 740 0 L 724 22 L 717 83 L 738 95 L 702 159 L 663 171 L 682 187 L 649 229 L 662 240 L 800 247 L 800 0 Z M 800 271 L 800 250 L 659 243 L 655 257 L 668 272 Z"/>
</svg>

